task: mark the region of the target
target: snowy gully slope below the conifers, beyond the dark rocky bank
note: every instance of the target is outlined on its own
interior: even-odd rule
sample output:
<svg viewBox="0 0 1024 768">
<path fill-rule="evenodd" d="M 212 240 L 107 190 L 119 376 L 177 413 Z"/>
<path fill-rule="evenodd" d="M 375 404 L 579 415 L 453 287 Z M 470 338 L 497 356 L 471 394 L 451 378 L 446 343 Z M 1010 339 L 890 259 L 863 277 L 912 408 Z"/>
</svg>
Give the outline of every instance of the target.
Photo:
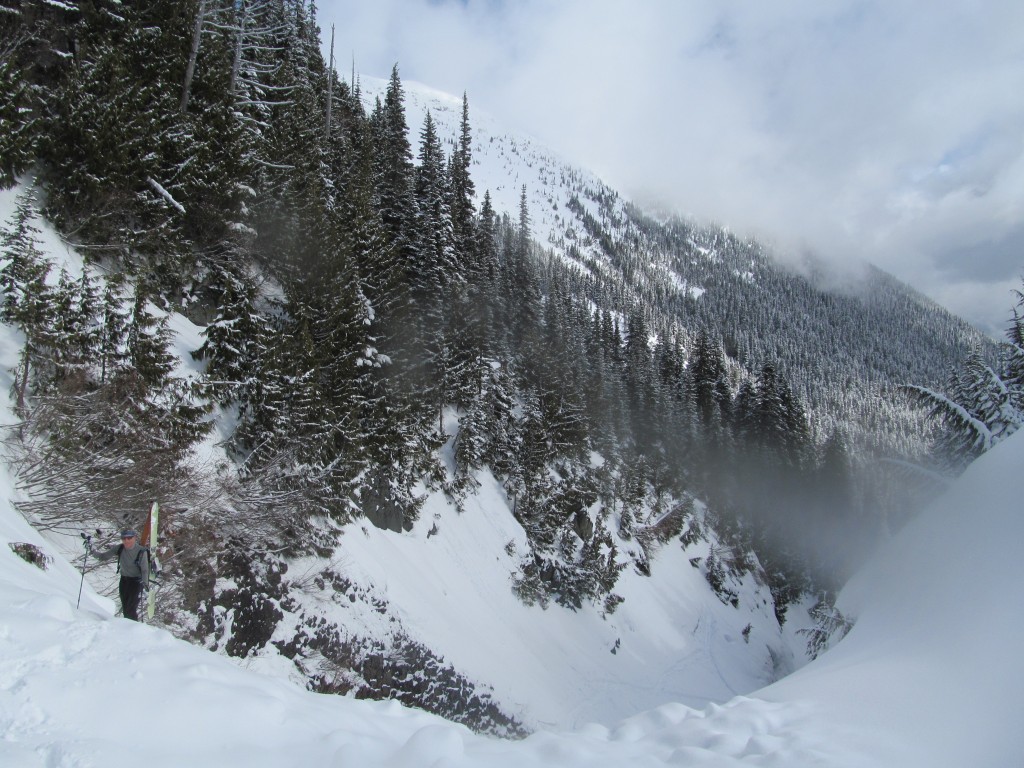
<svg viewBox="0 0 1024 768">
<path fill-rule="evenodd" d="M 615 587 L 625 600 L 613 613 L 593 604 L 578 611 L 524 605 L 511 586 L 528 552 L 525 531 L 495 478 L 479 479 L 465 511 L 432 495 L 408 534 L 350 524 L 338 557 L 347 579 L 387 601 L 404 633 L 492 687 L 527 727 L 608 724 L 667 701 L 724 701 L 773 679 L 773 653 L 791 654 L 788 665 L 802 655 L 802 647 L 790 650 L 802 646 L 799 617 L 783 635 L 767 588 L 753 577 L 735 585 L 739 608 L 709 589 L 690 563 L 707 556 L 708 542 L 666 545 L 650 577 L 628 567 Z M 322 594 L 313 589 L 307 599 Z M 374 622 L 367 604 L 322 603 L 319 610 L 354 629 Z"/>
</svg>

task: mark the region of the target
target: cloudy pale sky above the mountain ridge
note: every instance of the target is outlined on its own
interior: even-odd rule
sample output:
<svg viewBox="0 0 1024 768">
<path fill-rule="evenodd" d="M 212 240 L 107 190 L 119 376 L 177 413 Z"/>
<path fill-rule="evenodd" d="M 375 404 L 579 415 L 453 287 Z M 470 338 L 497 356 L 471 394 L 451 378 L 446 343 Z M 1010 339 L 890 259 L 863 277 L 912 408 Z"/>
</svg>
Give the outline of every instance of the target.
<svg viewBox="0 0 1024 768">
<path fill-rule="evenodd" d="M 1021 0 L 321 0 L 636 200 L 861 257 L 1001 337 L 1024 274 Z"/>
</svg>

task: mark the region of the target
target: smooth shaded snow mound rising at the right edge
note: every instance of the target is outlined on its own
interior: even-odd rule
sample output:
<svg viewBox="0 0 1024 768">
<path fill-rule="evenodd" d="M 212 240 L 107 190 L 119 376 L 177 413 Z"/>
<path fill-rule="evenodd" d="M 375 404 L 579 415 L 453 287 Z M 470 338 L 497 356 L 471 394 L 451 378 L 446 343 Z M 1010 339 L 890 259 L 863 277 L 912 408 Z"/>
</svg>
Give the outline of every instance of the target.
<svg viewBox="0 0 1024 768">
<path fill-rule="evenodd" d="M 1024 433 L 979 459 L 844 589 L 858 616 L 819 664 L 762 691 L 880 734 L 885 765 L 1024 764 Z"/>
</svg>

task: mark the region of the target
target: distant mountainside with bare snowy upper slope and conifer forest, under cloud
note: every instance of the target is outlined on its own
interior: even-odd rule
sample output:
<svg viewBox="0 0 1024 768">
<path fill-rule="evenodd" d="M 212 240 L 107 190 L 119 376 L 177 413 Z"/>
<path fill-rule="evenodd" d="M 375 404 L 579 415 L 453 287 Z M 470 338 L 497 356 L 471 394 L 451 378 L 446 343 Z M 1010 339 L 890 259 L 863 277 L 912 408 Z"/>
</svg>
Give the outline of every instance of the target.
<svg viewBox="0 0 1024 768">
<path fill-rule="evenodd" d="M 360 85 L 372 104 L 386 81 Z M 461 100 L 412 83 L 407 102 L 420 122 L 429 111 L 442 135 L 457 134 Z M 489 116 L 473 122 L 477 185 L 505 210 L 525 185 L 535 234 L 577 267 L 581 292 L 622 317 L 640 306 L 651 334 L 678 334 L 686 348 L 705 331 L 748 372 L 775 364 L 818 440 L 842 426 L 864 445 L 913 454 L 923 423 L 889 387 L 943 381 L 972 348 L 994 353 L 991 339 L 867 262 L 794 258 L 727 228 L 645 211 Z"/>
</svg>

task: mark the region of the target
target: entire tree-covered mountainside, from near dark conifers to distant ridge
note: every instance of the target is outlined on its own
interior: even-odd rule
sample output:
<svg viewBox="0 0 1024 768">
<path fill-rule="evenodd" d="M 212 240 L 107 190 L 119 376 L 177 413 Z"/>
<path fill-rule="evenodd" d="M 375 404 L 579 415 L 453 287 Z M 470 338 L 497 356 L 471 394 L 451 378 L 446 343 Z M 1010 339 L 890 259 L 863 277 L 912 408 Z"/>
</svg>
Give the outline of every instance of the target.
<svg viewBox="0 0 1024 768">
<path fill-rule="evenodd" d="M 397 68 L 364 91 L 302 0 L 0 10 L 23 509 L 74 531 L 161 500 L 163 621 L 317 689 L 520 727 L 421 640 L 300 599 L 398 615 L 335 556 L 367 519 L 458 526 L 439 499 L 512 521 L 496 567 L 527 605 L 612 616 L 682 548 L 720 605 L 770 604 L 739 627 L 776 659 L 787 606 L 913 501 L 869 472 L 923 446 L 893 386 L 987 343 L 876 270 L 837 293 L 645 214 Z M 51 260 L 39 208 L 83 260 Z"/>
</svg>

